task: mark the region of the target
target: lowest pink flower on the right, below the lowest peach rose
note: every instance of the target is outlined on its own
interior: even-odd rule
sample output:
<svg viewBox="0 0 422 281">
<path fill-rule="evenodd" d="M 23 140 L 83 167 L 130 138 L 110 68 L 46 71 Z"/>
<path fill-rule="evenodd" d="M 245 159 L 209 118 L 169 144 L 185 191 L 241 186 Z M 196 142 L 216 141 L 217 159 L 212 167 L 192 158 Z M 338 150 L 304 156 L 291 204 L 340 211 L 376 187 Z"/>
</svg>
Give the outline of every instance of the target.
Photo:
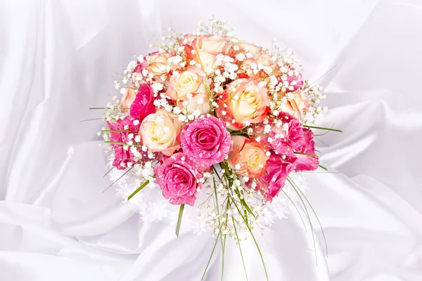
<svg viewBox="0 0 422 281">
<path fill-rule="evenodd" d="M 271 153 L 267 160 L 267 171 L 256 180 L 256 189 L 260 190 L 267 202 L 271 202 L 276 195 L 279 195 L 291 170 L 292 164 L 283 162 L 279 155 Z"/>
</svg>

